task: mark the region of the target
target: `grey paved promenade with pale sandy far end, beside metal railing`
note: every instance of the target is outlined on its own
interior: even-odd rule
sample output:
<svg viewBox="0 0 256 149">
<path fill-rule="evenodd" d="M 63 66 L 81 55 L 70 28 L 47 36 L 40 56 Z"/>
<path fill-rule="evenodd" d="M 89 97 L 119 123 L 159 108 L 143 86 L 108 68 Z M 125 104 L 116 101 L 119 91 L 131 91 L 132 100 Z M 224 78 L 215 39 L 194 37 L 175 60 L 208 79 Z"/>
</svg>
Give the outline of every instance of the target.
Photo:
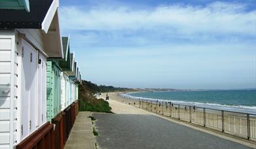
<svg viewBox="0 0 256 149">
<path fill-rule="evenodd" d="M 99 148 L 249 148 L 118 101 L 109 103 L 116 114 L 93 114 Z"/>
</svg>

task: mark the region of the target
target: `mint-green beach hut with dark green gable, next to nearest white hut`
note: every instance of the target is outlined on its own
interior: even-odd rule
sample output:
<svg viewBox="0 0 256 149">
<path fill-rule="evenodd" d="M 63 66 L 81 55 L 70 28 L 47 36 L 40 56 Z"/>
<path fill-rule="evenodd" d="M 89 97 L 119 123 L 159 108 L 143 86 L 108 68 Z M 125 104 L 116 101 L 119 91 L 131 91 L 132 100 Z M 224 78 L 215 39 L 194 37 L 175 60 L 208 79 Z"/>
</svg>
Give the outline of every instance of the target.
<svg viewBox="0 0 256 149">
<path fill-rule="evenodd" d="M 72 71 L 69 37 L 62 37 L 64 58 L 49 58 L 47 60 L 47 120 L 57 116 L 65 109 L 66 90 L 69 80 L 65 71 Z M 71 95 L 73 95 L 71 93 Z"/>
</svg>

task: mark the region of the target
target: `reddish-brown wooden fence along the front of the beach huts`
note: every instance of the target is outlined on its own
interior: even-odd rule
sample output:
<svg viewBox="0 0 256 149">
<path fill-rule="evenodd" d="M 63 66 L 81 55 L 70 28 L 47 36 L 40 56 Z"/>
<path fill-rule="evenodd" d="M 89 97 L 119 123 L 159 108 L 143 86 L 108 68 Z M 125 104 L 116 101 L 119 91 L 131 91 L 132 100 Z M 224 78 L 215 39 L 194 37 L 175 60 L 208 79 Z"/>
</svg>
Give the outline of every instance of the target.
<svg viewBox="0 0 256 149">
<path fill-rule="evenodd" d="M 52 124 L 47 122 L 37 131 L 29 135 L 29 137 L 20 142 L 16 148 L 63 149 L 73 124 L 75 123 L 75 118 L 78 112 L 79 102 L 76 101 L 55 116 L 52 119 Z"/>
</svg>

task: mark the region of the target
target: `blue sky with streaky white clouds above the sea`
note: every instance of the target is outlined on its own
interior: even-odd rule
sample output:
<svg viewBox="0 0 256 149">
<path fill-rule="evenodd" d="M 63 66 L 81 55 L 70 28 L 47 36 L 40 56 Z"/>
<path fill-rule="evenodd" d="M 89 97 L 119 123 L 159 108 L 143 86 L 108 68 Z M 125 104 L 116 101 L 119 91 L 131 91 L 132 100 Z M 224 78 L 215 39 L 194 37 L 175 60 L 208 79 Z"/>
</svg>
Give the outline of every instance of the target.
<svg viewBox="0 0 256 149">
<path fill-rule="evenodd" d="M 256 0 L 61 0 L 83 80 L 128 88 L 256 88 Z"/>
</svg>

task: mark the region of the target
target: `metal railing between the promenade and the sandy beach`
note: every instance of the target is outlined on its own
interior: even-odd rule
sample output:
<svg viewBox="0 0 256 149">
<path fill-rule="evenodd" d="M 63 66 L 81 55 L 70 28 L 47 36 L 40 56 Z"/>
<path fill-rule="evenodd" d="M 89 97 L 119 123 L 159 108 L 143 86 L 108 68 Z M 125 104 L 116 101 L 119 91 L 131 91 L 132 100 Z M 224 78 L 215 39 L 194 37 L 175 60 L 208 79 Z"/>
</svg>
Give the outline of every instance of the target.
<svg viewBox="0 0 256 149">
<path fill-rule="evenodd" d="M 134 101 L 136 105 L 137 101 Z M 256 141 L 256 114 L 139 99 L 139 108 Z"/>
</svg>

